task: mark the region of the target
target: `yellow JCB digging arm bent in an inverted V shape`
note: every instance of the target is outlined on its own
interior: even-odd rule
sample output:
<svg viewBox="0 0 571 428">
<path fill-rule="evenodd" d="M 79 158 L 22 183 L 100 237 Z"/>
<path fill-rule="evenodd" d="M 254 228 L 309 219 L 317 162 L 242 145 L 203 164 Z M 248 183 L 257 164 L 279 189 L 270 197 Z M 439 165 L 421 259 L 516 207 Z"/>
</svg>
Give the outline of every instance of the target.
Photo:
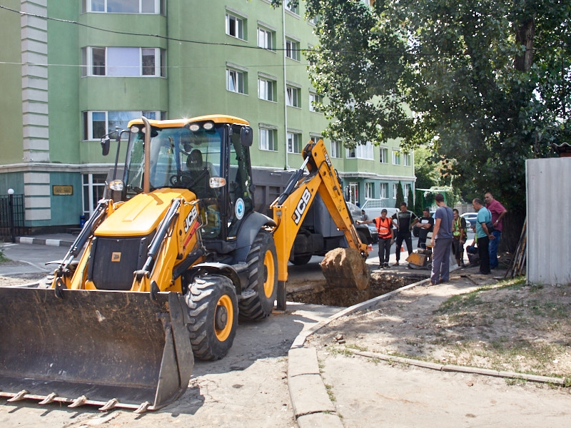
<svg viewBox="0 0 571 428">
<path fill-rule="evenodd" d="M 283 193 L 270 205 L 278 225 L 273 238 L 278 256 L 278 309 L 285 308 L 285 282 L 288 259 L 308 208 L 319 193 L 337 228 L 343 231 L 348 247 L 367 258 L 368 245 L 359 239 L 353 219 L 343 198 L 337 171 L 333 168 L 323 140 L 310 142 L 303 149 L 304 162 L 295 171 Z M 305 174 L 307 168 L 309 174 Z"/>
</svg>

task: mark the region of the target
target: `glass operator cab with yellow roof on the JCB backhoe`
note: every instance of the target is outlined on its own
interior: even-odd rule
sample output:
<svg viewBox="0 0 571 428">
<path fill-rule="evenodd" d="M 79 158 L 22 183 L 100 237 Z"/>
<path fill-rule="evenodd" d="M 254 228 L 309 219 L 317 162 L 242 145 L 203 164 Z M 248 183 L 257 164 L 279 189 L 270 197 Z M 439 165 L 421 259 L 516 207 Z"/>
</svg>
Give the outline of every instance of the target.
<svg viewBox="0 0 571 428">
<path fill-rule="evenodd" d="M 217 249 L 224 253 L 226 243 L 236 240 L 241 223 L 253 211 L 248 122 L 213 115 L 149 123 L 150 190 L 191 190 L 201 200 L 203 238 L 222 240 Z M 143 191 L 145 170 L 143 121 L 131 121 L 129 130 L 123 200 Z"/>
</svg>

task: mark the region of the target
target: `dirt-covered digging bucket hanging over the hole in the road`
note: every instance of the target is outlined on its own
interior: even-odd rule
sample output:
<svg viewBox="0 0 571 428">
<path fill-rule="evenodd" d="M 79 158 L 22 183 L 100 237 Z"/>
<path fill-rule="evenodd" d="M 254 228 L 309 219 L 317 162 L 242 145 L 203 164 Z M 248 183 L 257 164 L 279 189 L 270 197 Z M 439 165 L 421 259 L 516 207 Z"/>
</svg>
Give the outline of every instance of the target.
<svg viewBox="0 0 571 428">
<path fill-rule="evenodd" d="M 335 248 L 320 263 L 328 287 L 356 287 L 365 290 L 369 286 L 369 270 L 358 250 Z"/>
</svg>

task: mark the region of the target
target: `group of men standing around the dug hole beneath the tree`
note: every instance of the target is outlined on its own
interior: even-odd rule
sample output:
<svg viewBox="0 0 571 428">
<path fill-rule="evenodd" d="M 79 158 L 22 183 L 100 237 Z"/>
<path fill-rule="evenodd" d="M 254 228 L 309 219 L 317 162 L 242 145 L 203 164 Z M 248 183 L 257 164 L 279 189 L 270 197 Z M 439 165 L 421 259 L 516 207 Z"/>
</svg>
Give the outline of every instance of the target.
<svg viewBox="0 0 571 428">
<path fill-rule="evenodd" d="M 497 267 L 497 245 L 502 235 L 503 218 L 507 210 L 501 203 L 494 199 L 492 193 L 484 195 L 485 204 L 475 198 L 472 206 L 477 212 L 474 241 L 477 243 L 480 255 L 480 273 L 487 275 L 490 269 Z M 430 216 L 430 210 L 423 210 L 423 217 L 418 218 L 413 211 L 408 210 L 405 202 L 400 203 L 400 211 L 391 218 L 387 217 L 387 210 L 380 212 L 380 217 L 373 220 L 363 220 L 358 223 L 375 223 L 379 233 L 379 267 L 388 267 L 390 247 L 393 242 L 395 247 L 395 266 L 399 265 L 400 248 L 406 243 L 408 254 L 413 253 L 413 240 L 410 231 L 414 227 L 419 228 L 418 248 L 426 247 L 428 233 L 432 232 L 430 246 L 432 247 L 432 272 L 430 282 L 433 285 L 450 280 L 450 251 L 453 251 L 456 262 L 464 266 L 464 244 L 467 238 L 466 220 L 460 217 L 456 209 L 448 207 L 444 202 L 444 195 L 435 195 L 435 203 L 438 206 L 434 217 Z"/>
</svg>

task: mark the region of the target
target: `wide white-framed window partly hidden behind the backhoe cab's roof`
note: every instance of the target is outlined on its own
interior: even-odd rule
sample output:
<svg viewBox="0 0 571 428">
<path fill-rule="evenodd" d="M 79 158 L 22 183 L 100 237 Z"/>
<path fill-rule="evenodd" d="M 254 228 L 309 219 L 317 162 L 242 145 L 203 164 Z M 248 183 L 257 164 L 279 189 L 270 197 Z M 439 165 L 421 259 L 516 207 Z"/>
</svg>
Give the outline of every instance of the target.
<svg viewBox="0 0 571 428">
<path fill-rule="evenodd" d="M 164 111 L 84 111 L 84 140 L 98 140 L 102 136 L 126 129 L 128 122 L 145 116 L 148 119 L 165 119 Z M 123 139 L 128 138 L 123 134 Z"/>
</svg>

